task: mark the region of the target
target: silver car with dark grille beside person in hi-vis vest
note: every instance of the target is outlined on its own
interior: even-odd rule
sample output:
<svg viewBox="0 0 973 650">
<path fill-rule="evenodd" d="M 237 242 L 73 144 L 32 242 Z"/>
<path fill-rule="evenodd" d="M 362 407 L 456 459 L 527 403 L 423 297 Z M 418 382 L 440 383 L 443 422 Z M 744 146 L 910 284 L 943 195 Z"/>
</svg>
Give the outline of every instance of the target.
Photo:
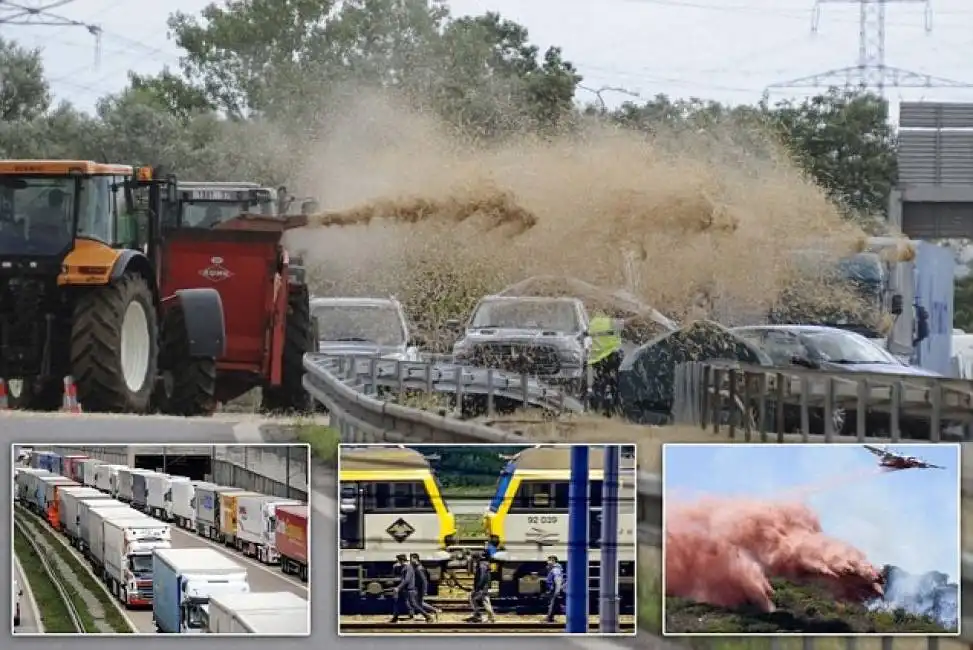
<svg viewBox="0 0 973 650">
<path fill-rule="evenodd" d="M 458 323 L 453 324 L 458 327 Z M 587 388 L 588 313 L 576 298 L 487 296 L 453 346 L 457 363 Z"/>
</svg>

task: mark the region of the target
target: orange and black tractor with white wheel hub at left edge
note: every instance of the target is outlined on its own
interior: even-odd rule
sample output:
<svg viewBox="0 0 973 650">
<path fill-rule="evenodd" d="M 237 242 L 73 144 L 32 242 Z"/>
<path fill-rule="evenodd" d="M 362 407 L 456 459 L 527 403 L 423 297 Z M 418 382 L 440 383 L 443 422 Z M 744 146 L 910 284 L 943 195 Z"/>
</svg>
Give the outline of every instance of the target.
<svg viewBox="0 0 973 650">
<path fill-rule="evenodd" d="M 147 167 L 0 160 L 0 378 L 14 408 L 58 408 L 70 375 L 87 411 L 215 409 L 219 293 L 159 290 L 175 183 Z"/>
</svg>

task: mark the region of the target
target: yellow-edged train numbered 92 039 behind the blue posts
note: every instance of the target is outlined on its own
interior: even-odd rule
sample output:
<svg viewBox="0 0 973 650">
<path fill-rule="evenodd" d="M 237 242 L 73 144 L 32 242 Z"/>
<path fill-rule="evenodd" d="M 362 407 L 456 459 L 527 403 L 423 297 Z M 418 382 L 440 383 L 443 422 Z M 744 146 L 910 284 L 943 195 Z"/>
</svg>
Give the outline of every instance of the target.
<svg viewBox="0 0 973 650">
<path fill-rule="evenodd" d="M 604 488 L 603 447 L 589 452 L 589 610 L 598 613 L 601 586 L 601 515 Z M 484 515 L 483 527 L 497 548 L 491 568 L 499 583 L 498 604 L 528 607 L 543 602 L 547 558 L 567 568 L 570 447 L 533 447 L 509 459 Z M 635 613 L 635 448 L 623 446 L 618 489 L 619 613 Z"/>
</svg>

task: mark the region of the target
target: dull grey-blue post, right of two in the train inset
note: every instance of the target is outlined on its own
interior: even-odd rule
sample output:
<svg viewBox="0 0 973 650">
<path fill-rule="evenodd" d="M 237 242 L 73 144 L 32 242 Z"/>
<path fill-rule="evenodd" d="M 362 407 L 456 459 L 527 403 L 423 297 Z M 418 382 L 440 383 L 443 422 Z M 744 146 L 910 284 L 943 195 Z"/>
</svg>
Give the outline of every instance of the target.
<svg viewBox="0 0 973 650">
<path fill-rule="evenodd" d="M 618 470 L 622 450 L 605 447 L 605 483 L 601 503 L 601 587 L 598 632 L 618 633 Z"/>
</svg>

